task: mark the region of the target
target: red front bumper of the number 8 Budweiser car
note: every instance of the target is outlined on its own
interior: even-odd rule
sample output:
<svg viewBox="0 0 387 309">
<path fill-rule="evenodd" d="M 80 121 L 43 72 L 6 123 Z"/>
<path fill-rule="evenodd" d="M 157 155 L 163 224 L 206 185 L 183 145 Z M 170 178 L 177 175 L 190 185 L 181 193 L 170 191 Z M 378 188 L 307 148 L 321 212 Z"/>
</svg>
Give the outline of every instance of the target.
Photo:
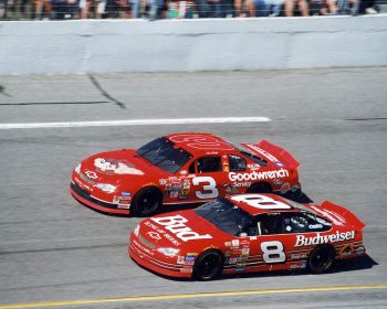
<svg viewBox="0 0 387 309">
<path fill-rule="evenodd" d="M 171 264 L 151 256 L 153 251 L 145 252 L 145 248 L 142 248 L 136 241 L 130 239 L 128 254 L 138 265 L 157 274 L 176 278 L 191 278 L 191 268 L 185 268 L 184 265 Z"/>
</svg>

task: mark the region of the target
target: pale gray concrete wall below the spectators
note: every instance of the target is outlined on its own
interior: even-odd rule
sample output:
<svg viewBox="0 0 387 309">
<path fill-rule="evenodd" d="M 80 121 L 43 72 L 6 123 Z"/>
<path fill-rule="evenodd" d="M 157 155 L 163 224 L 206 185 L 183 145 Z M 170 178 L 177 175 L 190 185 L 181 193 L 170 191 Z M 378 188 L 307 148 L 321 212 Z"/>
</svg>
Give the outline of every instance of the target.
<svg viewBox="0 0 387 309">
<path fill-rule="evenodd" d="M 0 74 L 387 65 L 387 15 L 0 22 Z"/>
</svg>

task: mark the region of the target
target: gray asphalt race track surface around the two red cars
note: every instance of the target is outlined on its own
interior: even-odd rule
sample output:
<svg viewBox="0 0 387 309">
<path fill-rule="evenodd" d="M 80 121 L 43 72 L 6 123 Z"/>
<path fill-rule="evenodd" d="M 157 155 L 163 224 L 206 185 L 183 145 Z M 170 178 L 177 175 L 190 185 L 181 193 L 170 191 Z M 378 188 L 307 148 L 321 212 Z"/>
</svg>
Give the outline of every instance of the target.
<svg viewBox="0 0 387 309">
<path fill-rule="evenodd" d="M 3 124 L 268 117 L 264 122 L 4 129 Z M 146 121 L 145 121 L 146 122 Z M 127 256 L 139 219 L 77 203 L 70 173 L 94 152 L 174 131 L 268 139 L 301 162 L 303 191 L 365 223 L 368 256 L 327 275 L 159 277 Z M 386 308 L 387 67 L 0 76 L 0 309 Z M 148 297 L 154 296 L 154 297 Z M 43 302 L 43 303 L 39 303 Z"/>
</svg>

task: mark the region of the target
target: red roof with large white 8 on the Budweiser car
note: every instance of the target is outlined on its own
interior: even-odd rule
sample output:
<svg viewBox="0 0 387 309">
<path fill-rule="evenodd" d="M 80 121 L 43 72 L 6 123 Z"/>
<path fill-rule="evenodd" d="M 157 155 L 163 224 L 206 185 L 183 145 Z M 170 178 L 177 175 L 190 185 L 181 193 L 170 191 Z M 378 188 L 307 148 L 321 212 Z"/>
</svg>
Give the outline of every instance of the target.
<svg viewBox="0 0 387 309">
<path fill-rule="evenodd" d="M 278 213 L 282 211 L 299 212 L 300 207 L 294 202 L 285 200 L 275 194 L 238 194 L 226 196 L 231 203 L 255 216 L 261 213 Z M 300 205 L 302 206 L 302 205 Z M 303 206 L 302 206 L 303 207 Z"/>
</svg>

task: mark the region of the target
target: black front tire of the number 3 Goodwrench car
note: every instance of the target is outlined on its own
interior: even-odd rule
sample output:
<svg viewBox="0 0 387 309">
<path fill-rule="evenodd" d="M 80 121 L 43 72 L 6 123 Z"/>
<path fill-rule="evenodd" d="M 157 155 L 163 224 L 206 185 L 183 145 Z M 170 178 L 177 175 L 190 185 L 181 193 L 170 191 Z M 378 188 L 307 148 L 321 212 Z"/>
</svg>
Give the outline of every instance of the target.
<svg viewBox="0 0 387 309">
<path fill-rule="evenodd" d="M 132 202 L 132 212 L 138 216 L 149 216 L 161 209 L 163 193 L 154 187 L 146 187 L 138 191 Z"/>
</svg>

